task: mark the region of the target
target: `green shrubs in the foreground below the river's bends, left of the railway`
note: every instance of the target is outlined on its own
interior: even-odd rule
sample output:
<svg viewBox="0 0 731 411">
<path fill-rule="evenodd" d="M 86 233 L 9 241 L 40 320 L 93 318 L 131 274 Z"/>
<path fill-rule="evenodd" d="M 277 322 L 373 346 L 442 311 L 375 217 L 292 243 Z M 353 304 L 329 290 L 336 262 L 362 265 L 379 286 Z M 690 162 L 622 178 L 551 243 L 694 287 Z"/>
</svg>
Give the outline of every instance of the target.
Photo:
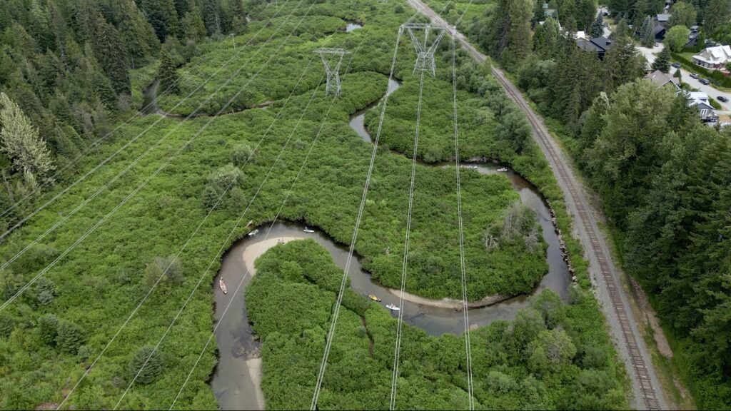
<svg viewBox="0 0 731 411">
<path fill-rule="evenodd" d="M 262 388 L 272 410 L 307 408 L 342 271 L 312 240 L 268 250 L 246 290 L 262 341 Z M 384 409 L 390 396 L 395 322 L 347 289 L 319 396 L 321 410 Z M 590 314 L 591 313 L 591 314 Z M 602 331 L 593 298 L 564 306 L 544 291 L 511 323 L 471 332 L 475 407 L 480 410 L 623 410 L 624 367 Z M 463 336 L 428 336 L 406 325 L 398 409 L 467 408 Z"/>
</svg>

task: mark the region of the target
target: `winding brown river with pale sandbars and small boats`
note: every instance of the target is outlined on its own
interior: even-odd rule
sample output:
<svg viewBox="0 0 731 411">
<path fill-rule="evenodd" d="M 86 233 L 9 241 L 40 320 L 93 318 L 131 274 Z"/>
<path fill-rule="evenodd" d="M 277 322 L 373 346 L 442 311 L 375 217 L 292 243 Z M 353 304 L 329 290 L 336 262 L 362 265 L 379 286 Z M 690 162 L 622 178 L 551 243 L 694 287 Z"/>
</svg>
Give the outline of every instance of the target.
<svg viewBox="0 0 731 411">
<path fill-rule="evenodd" d="M 387 94 L 393 93 L 399 86 L 400 83 L 390 80 Z M 363 140 L 371 141 L 371 135 L 364 125 L 365 113 L 377 104 L 378 102 L 351 116 L 350 126 Z M 433 166 L 444 167 L 447 164 Z M 477 172 L 482 174 L 499 173 L 497 171 L 498 165 L 492 163 L 471 162 L 469 165 L 463 165 L 463 167 L 477 167 Z M 539 195 L 538 190 L 528 181 L 513 173 L 512 170 L 501 174 L 504 174 L 510 180 L 513 189 L 519 193 L 521 202 L 536 212 L 537 220 L 542 227 L 543 238 L 548 244 L 546 257 L 548 274 L 543 276 L 538 286 L 529 295 L 518 295 L 490 306 L 470 309 L 471 326 L 488 325 L 496 320 L 512 320 L 519 309 L 528 305 L 531 295 L 545 288 L 550 288 L 565 300 L 568 286 L 571 283 L 571 275 L 561 254 L 558 235 L 554 231 L 550 211 Z M 346 246 L 336 244 L 327 234 L 317 229 L 315 229 L 315 233 L 304 233 L 303 228 L 303 225 L 292 222 L 276 222 L 273 225 L 263 225 L 259 227 L 257 235 L 243 238 L 224 254 L 219 276 L 223 276 L 231 291 L 234 291 L 240 282 L 243 281 L 243 283 L 239 293 L 231 292 L 224 295 L 218 287 L 218 276 L 213 282 L 215 284 L 213 293 L 216 301 L 214 315 L 216 323 L 219 324 L 216 329 L 219 363 L 213 374 L 211 387 L 219 401 L 221 410 L 264 409 L 263 393 L 260 388 L 262 375 L 260 348 L 255 339 L 256 337 L 252 333 L 251 325 L 249 325 L 243 293 L 246 285 L 251 280 L 251 275 L 255 274 L 254 260 L 272 246 L 276 246 L 280 240 L 292 241 L 301 238 L 312 238 L 330 252 L 338 266 L 345 267 L 348 254 Z M 392 292 L 393 290 L 374 282 L 370 274 L 363 271 L 360 261 L 353 261 L 348 276 L 352 289 L 357 293 L 378 295 L 382 298 L 384 306 L 387 303 L 398 303 L 398 296 Z M 438 303 L 437 301 L 432 302 Z M 221 319 L 223 311 L 229 303 L 230 312 Z M 406 323 L 419 327 L 433 336 L 439 336 L 443 333 L 461 333 L 464 328 L 461 312 L 436 305 L 404 301 L 401 307 L 404 310 L 404 320 L 406 320 Z M 395 314 L 393 315 L 395 316 Z"/>
</svg>

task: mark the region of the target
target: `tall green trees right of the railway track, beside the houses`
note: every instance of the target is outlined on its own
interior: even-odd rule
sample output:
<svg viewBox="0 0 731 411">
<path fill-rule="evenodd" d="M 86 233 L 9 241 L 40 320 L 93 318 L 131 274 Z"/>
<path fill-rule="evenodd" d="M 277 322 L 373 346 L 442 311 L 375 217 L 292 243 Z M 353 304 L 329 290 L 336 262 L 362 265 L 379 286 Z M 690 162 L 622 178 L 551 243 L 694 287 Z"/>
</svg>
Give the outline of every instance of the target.
<svg viewBox="0 0 731 411">
<path fill-rule="evenodd" d="M 599 195 L 621 264 L 648 293 L 697 406 L 727 409 L 731 129 L 702 124 L 687 97 L 642 79 L 643 39 L 631 27 L 663 1 L 608 1 L 616 26 L 604 59 L 559 29 L 594 30 L 596 4 L 581 18 L 578 1 L 549 1 L 556 19 L 541 3 L 470 6 L 461 29 L 523 89 Z M 671 26 L 698 24 L 703 38 L 729 43 L 729 1 L 678 1 L 670 12 Z"/>
</svg>

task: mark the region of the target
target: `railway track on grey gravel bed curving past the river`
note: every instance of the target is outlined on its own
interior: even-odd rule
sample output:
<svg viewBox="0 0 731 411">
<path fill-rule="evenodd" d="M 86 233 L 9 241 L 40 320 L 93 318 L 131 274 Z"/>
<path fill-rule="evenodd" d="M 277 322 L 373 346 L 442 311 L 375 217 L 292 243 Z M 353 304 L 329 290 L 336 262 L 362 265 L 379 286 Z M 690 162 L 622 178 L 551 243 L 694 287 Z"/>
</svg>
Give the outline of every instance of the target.
<svg viewBox="0 0 731 411">
<path fill-rule="evenodd" d="M 433 23 L 451 26 L 436 14 L 421 0 L 406 0 L 414 9 L 423 12 Z M 487 57 L 477 51 L 463 34 L 451 29 L 452 35 L 461 42 L 477 61 L 484 62 Z M 589 271 L 592 282 L 597 289 L 597 296 L 602 303 L 602 311 L 610 325 L 610 333 L 621 358 L 626 364 L 627 374 L 632 380 L 634 406 L 637 409 L 662 410 L 667 406 L 662 398 L 662 390 L 648 354 L 642 335 L 637 330 L 635 316 L 629 309 L 624 287 L 619 280 L 618 271 L 611 259 L 610 248 L 606 239 L 599 230 L 594 211 L 588 203 L 588 196 L 583 186 L 577 181 L 569 162 L 559 148 L 553 136 L 550 135 L 542 118 L 531 110 L 517 88 L 510 83 L 500 69 L 493 67 L 493 73 L 502 83 L 507 94 L 526 113 L 531 126 L 533 137 L 545 154 L 550 167 L 556 176 L 558 185 L 566 198 L 567 209 L 572 214 L 577 233 L 580 236 L 586 257 L 590 265 Z"/>
</svg>

